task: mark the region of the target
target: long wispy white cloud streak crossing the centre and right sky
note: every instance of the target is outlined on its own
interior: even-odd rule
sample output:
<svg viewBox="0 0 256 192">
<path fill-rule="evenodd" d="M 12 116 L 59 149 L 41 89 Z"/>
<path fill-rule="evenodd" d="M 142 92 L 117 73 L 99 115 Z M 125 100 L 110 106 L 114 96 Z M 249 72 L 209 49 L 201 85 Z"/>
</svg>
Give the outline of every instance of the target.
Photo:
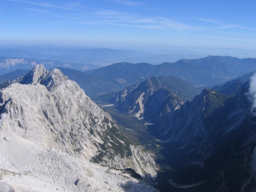
<svg viewBox="0 0 256 192">
<path fill-rule="evenodd" d="M 240 28 L 245 30 L 255 30 L 239 25 L 222 25 L 214 27 L 192 26 L 182 22 L 176 22 L 169 18 L 163 17 L 143 17 L 136 14 L 126 12 L 117 12 L 113 10 L 97 10 L 90 11 L 85 14 L 75 14 L 74 18 L 81 18 L 81 23 L 84 24 L 111 24 L 116 26 L 127 26 L 147 29 L 171 29 L 171 30 L 194 30 L 194 31 L 212 31 L 212 30 L 227 30 L 232 28 Z M 220 21 L 215 21 L 219 24 Z"/>
</svg>

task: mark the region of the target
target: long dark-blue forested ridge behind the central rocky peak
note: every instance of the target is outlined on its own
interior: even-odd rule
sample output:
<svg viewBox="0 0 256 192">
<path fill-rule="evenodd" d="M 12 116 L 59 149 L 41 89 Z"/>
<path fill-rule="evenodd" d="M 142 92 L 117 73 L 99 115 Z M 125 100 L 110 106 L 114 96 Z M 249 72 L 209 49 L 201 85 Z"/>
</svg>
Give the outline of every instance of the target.
<svg viewBox="0 0 256 192">
<path fill-rule="evenodd" d="M 239 59 L 230 56 L 208 56 L 201 59 L 179 60 L 174 63 L 151 65 L 147 63 L 116 63 L 89 70 L 86 74 L 98 76 L 119 86 L 142 82 L 153 76 L 176 76 L 195 86 L 219 84 L 256 70 L 256 59 Z"/>
</svg>

